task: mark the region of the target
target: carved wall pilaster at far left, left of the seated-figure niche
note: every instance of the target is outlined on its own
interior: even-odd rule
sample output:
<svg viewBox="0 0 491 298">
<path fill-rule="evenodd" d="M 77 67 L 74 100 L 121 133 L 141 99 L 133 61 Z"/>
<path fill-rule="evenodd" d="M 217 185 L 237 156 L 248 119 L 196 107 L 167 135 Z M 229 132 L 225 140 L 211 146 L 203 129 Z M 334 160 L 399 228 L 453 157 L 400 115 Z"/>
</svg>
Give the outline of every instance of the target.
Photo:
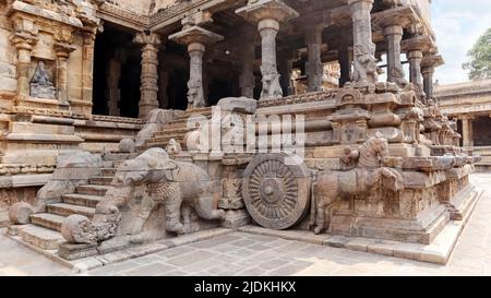
<svg viewBox="0 0 491 298">
<path fill-rule="evenodd" d="M 28 34 L 17 33 L 10 40 L 17 49 L 17 96 L 25 98 L 29 96 L 31 53 L 37 38 Z"/>
</svg>

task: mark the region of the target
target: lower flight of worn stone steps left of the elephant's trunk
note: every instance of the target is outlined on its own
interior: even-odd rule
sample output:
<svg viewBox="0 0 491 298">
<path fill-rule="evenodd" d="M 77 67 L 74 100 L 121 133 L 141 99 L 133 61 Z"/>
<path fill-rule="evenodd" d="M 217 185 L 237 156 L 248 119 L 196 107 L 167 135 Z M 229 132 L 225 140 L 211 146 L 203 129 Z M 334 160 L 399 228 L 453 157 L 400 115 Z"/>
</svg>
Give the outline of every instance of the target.
<svg viewBox="0 0 491 298">
<path fill-rule="evenodd" d="M 62 195 L 59 203 L 48 204 L 46 213 L 31 215 L 31 224 L 19 228 L 17 236 L 43 250 L 57 250 L 63 242 L 61 225 L 68 216 L 80 214 L 93 218 L 96 205 L 111 188 L 116 169 L 121 163 L 133 158 L 132 154 L 110 153 L 103 157 L 104 167 L 99 176 L 92 177 L 87 184 L 75 188 L 74 193 Z"/>
</svg>

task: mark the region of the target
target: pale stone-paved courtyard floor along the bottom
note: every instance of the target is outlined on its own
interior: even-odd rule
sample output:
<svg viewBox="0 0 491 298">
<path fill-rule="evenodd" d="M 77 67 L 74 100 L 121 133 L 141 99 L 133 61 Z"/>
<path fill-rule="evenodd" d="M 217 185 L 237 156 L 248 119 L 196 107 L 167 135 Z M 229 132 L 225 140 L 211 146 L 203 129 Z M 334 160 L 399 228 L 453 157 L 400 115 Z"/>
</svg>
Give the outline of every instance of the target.
<svg viewBox="0 0 491 298">
<path fill-rule="evenodd" d="M 446 266 L 235 233 L 96 269 L 85 275 L 491 275 L 491 174 Z M 0 236 L 1 274 L 72 274 Z"/>
</svg>

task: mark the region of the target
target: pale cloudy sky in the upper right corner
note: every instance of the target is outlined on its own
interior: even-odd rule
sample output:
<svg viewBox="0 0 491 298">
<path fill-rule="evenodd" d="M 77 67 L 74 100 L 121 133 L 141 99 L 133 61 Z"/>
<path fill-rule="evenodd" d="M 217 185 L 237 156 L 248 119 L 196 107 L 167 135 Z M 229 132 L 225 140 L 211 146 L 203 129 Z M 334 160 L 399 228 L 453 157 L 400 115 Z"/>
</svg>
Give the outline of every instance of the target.
<svg viewBox="0 0 491 298">
<path fill-rule="evenodd" d="M 432 23 L 445 65 L 436 69 L 440 84 L 468 81 L 462 64 L 467 52 L 491 27 L 491 0 L 433 0 Z"/>
</svg>

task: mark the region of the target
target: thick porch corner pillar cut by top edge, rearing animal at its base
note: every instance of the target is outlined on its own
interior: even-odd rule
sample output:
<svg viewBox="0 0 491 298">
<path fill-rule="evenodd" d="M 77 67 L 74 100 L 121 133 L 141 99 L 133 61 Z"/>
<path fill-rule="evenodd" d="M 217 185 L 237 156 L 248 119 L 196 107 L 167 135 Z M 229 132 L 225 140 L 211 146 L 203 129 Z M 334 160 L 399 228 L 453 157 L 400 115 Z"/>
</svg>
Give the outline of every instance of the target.
<svg viewBox="0 0 491 298">
<path fill-rule="evenodd" d="M 348 5 L 354 23 L 352 81 L 357 87 L 368 87 L 379 80 L 370 15 L 373 0 L 348 0 Z"/>
</svg>

